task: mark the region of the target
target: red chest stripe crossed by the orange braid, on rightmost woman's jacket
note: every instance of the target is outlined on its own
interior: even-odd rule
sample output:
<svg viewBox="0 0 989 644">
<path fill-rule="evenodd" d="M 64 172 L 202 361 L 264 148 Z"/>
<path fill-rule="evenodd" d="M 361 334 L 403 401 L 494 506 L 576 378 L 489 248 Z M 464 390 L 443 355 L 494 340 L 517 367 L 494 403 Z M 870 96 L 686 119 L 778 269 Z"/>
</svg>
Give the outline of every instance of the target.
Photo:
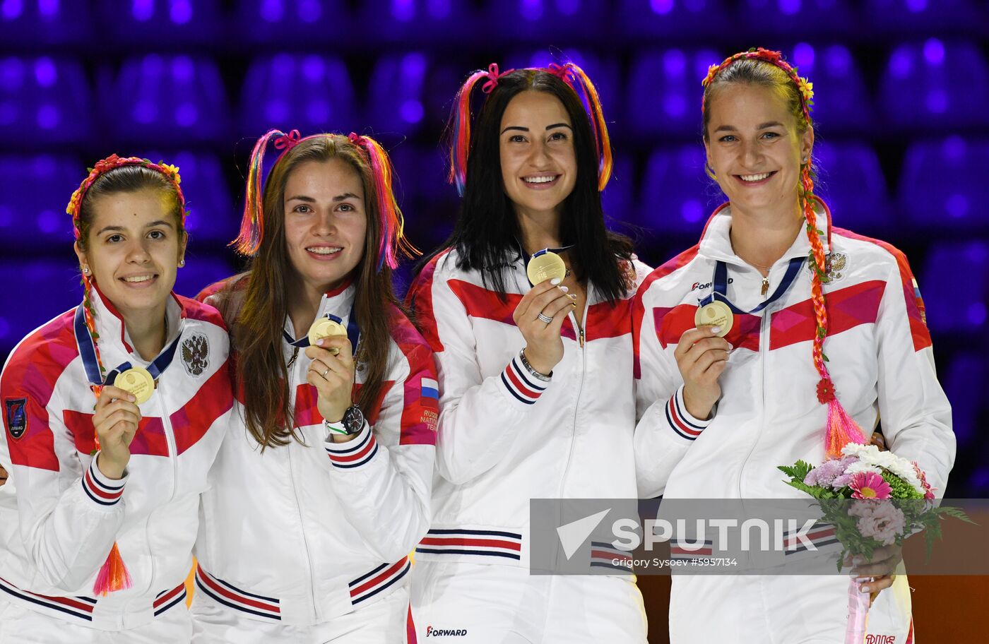
<svg viewBox="0 0 989 644">
<path fill-rule="evenodd" d="M 828 336 L 837 335 L 860 324 L 875 323 L 885 288 L 884 281 L 870 280 L 826 294 Z M 817 333 L 813 303 L 809 299 L 804 300 L 772 314 L 770 329 L 770 351 L 813 340 Z"/>
</svg>

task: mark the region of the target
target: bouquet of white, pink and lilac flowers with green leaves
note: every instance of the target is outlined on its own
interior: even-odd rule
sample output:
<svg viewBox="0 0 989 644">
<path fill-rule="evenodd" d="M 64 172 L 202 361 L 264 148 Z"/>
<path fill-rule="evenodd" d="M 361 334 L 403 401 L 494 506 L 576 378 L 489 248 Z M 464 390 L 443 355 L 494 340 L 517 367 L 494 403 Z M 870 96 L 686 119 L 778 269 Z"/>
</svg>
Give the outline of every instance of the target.
<svg viewBox="0 0 989 644">
<path fill-rule="evenodd" d="M 935 504 L 934 490 L 917 463 L 875 445 L 849 443 L 841 456 L 817 467 L 797 461 L 779 470 L 789 477 L 788 485 L 820 502 L 822 520 L 835 527 L 842 544 L 839 571 L 850 555 L 868 561 L 876 548 L 902 546 L 906 537 L 922 530 L 930 557 L 942 535 L 942 517 L 972 522 L 957 507 Z M 868 606 L 869 594 L 858 592 L 853 579 L 846 642 L 862 642 Z"/>
</svg>

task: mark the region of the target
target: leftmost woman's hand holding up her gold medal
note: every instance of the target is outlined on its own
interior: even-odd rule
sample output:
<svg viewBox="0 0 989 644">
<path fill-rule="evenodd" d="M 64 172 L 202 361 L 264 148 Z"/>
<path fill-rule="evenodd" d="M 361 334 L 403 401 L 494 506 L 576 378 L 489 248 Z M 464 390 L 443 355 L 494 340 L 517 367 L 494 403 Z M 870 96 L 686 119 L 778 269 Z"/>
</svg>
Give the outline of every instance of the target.
<svg viewBox="0 0 989 644">
<path fill-rule="evenodd" d="M 153 387 L 152 380 L 148 392 Z M 147 396 L 150 396 L 150 393 Z M 123 477 L 124 470 L 131 461 L 131 441 L 137 433 L 137 425 L 141 417 L 140 410 L 137 409 L 137 400 L 134 394 L 125 389 L 107 386 L 100 392 L 100 398 L 96 401 L 93 428 L 96 430 L 96 439 L 100 444 L 100 456 L 96 466 L 109 479 L 116 480 Z"/>
</svg>

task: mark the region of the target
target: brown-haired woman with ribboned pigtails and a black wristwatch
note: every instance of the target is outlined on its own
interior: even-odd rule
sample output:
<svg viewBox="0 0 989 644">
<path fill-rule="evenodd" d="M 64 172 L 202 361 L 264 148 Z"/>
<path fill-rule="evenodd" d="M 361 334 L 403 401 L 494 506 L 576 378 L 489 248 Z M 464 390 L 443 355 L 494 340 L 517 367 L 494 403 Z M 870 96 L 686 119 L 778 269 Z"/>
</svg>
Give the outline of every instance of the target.
<svg viewBox="0 0 989 644">
<path fill-rule="evenodd" d="M 193 641 L 402 642 L 438 410 L 432 352 L 392 293 L 411 249 L 388 154 L 268 132 L 237 250 L 247 272 L 200 295 L 230 328 L 237 421 L 203 497 Z"/>
</svg>

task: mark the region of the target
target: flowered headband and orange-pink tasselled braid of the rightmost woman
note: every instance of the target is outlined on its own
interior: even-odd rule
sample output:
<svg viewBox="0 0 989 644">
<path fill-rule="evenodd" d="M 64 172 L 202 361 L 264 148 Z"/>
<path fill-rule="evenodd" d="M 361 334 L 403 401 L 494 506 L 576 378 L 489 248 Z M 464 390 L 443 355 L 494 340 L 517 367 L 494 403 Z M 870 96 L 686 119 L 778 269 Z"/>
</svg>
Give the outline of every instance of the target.
<svg viewBox="0 0 989 644">
<path fill-rule="evenodd" d="M 810 110 L 813 105 L 811 99 L 814 97 L 814 85 L 806 78 L 800 77 L 797 74 L 797 68 L 783 60 L 783 54 L 779 51 L 770 51 L 769 49 L 758 47 L 730 55 L 721 64 L 711 65 L 708 68 L 707 76 L 701 81 L 701 85 L 706 89 L 711 83 L 715 82 L 718 74 L 736 61 L 742 59 L 763 60 L 782 69 L 790 82 L 796 86 L 800 95 L 800 108 L 803 112 L 804 125 L 807 128 L 812 127 L 813 123 L 810 118 Z M 703 112 L 704 108 L 704 101 L 701 100 L 701 112 Z M 814 310 L 814 318 L 817 322 L 812 355 L 814 367 L 821 377 L 815 393 L 818 402 L 821 405 L 828 406 L 828 419 L 825 425 L 824 435 L 825 452 L 829 458 L 837 458 L 841 456 L 842 449 L 849 443 L 863 444 L 867 441 L 861 427 L 858 426 L 858 423 L 855 422 L 854 418 L 849 415 L 838 400 L 835 385 L 826 364 L 828 357 L 824 354 L 824 340 L 828 336 L 828 310 L 825 305 L 824 287 L 822 285 L 827 279 L 827 270 L 825 268 L 827 264 L 825 263 L 824 244 L 821 241 L 821 237 L 825 233 L 817 228 L 817 213 L 814 210 L 815 203 L 820 204 L 824 210 L 829 234 L 831 230 L 831 214 L 828 211 L 827 205 L 814 194 L 814 178 L 811 174 L 813 164 L 814 162 L 811 158 L 808 158 L 806 162 L 801 164 L 799 200 L 800 209 L 803 212 L 806 222 L 807 238 L 810 241 L 811 248 L 807 261 L 812 274 L 811 304 Z"/>
</svg>

